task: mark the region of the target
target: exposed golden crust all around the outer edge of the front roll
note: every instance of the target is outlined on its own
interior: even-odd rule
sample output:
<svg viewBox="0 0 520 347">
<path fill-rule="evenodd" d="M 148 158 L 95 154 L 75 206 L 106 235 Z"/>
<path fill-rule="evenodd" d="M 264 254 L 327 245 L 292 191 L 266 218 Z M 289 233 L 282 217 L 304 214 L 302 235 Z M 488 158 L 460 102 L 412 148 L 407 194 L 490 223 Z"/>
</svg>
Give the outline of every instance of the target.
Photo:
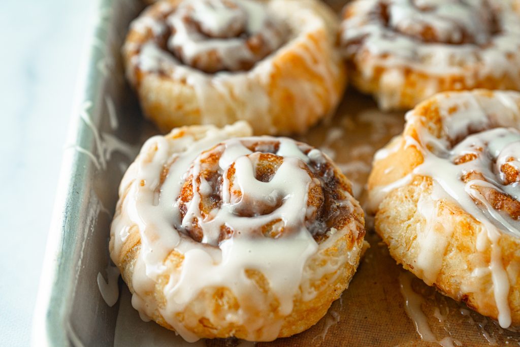
<svg viewBox="0 0 520 347">
<path fill-rule="evenodd" d="M 184 136 L 202 138 L 204 132 L 204 126 L 183 127 L 166 135 L 166 139 L 168 141 L 182 140 Z M 236 135 L 247 134 L 237 132 Z M 152 146 L 149 148 L 149 151 L 148 153 L 141 152 L 140 157 L 153 158 L 153 152 L 157 151 L 157 148 Z M 264 172 L 264 169 L 266 168 L 260 170 L 261 173 Z M 337 171 L 335 166 L 332 169 Z M 267 169 L 266 172 L 269 170 Z M 128 187 L 135 184 L 135 175 L 134 166 L 131 166 L 125 174 L 120 187 L 120 200 L 116 208 L 114 221 L 125 219 L 127 213 L 124 207 L 125 201 L 131 199 L 127 194 Z M 350 183 L 348 180 L 345 177 L 338 177 L 338 179 L 349 191 Z M 188 196 L 189 194 L 186 192 L 186 195 Z M 269 283 L 262 272 L 253 269 L 246 270 L 246 276 L 255 282 L 257 288 L 261 289 L 263 299 L 269 303 L 267 308 L 270 319 L 282 319 L 278 337 L 294 335 L 318 322 L 326 314 L 332 302 L 338 299 L 342 291 L 348 287 L 348 283 L 356 271 L 365 235 L 363 212 L 352 196 L 344 196 L 344 198 L 353 204 L 353 210 L 349 211 L 345 219 L 338 222 L 340 223 L 338 227 L 341 229 L 332 228 L 327 233 L 327 237 L 318 240 L 317 252 L 310 256 L 303 269 L 304 276 L 308 278 L 308 281 L 302 282 L 302 287 L 298 290 L 293 300 L 293 310 L 289 315 L 280 315 L 278 311 L 280 302 L 269 287 Z M 313 198 L 310 199 L 312 200 Z M 164 261 L 164 265 L 167 267 L 164 274 L 171 275 L 161 276 L 155 281 L 154 286 L 150 287 L 144 294 L 142 294 L 142 291 L 137 294 L 134 284 L 136 261 L 142 249 L 141 234 L 137 225 L 126 222 L 124 224 L 125 230 L 128 227 L 128 236 L 124 239 L 120 251 L 115 246 L 120 230 L 114 227 L 115 222 L 112 226 L 110 241 L 112 260 L 120 268 L 123 280 L 128 284 L 131 292 L 134 295 L 138 295 L 140 300 L 150 304 L 150 307 L 155 305 L 153 307 L 156 308 L 153 312 L 148 312 L 150 318 L 165 328 L 174 330 L 173 326 L 167 323 L 171 317 L 164 316 L 164 313 L 168 312 L 166 310 L 167 299 L 164 293 L 170 276 L 178 274 L 182 268 L 184 255 L 175 249 L 172 250 Z M 338 266 L 338 264 L 340 265 Z M 337 271 L 323 272 L 323 268 L 328 267 L 337 267 Z M 309 292 L 316 292 L 316 295 L 307 297 L 306 295 L 308 294 L 306 293 Z M 251 331 L 249 325 L 251 322 L 255 322 L 255 320 L 264 319 L 265 316 L 259 315 L 265 315 L 265 309 L 266 307 L 257 307 L 257 302 L 253 300 L 251 300 L 251 306 L 244 306 L 243 301 L 242 305 L 240 305 L 240 301 L 235 293 L 229 288 L 206 287 L 190 300 L 183 311 L 176 313 L 176 319 L 181 322 L 183 329 L 187 329 L 190 333 L 201 338 L 234 336 L 241 339 L 261 340 L 265 336 L 264 327 L 258 327 L 257 331 Z M 236 316 L 239 311 L 248 312 L 248 320 L 241 324 L 229 319 L 229 317 Z"/>
</svg>

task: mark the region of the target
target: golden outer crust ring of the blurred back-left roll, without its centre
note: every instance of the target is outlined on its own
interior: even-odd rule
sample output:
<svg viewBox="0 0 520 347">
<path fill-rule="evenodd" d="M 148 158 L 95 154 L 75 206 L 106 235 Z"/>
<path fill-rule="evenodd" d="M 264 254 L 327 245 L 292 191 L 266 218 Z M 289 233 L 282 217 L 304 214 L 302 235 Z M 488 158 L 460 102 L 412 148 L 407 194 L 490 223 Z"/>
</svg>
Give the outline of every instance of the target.
<svg viewBox="0 0 520 347">
<path fill-rule="evenodd" d="M 167 0 L 148 8 L 133 24 L 123 47 L 126 74 L 141 108 L 161 131 L 190 124 L 223 126 L 243 119 L 255 134 L 302 133 L 332 114 L 346 74 L 334 46 L 338 21 L 326 5 L 318 0 L 264 2 L 290 33 L 276 52 L 252 69 L 207 74 L 172 63 L 175 59 L 165 51 L 155 67 L 145 66 L 140 57 L 143 47 L 165 39 L 158 40 L 142 19 L 163 18 L 179 3 Z M 166 4 L 170 9 L 165 11 Z"/>
</svg>

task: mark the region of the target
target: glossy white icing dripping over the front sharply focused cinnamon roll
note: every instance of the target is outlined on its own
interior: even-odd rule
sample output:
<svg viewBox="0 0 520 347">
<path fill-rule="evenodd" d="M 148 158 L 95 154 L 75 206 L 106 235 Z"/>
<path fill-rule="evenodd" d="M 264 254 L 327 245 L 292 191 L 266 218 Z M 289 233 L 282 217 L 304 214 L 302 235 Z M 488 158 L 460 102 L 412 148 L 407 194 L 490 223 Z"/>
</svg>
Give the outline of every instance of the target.
<svg viewBox="0 0 520 347">
<path fill-rule="evenodd" d="M 227 140 L 233 135 L 249 135 L 249 132 L 245 123 L 236 123 L 223 130 L 211 127 L 200 139 L 187 134 L 174 140 L 152 137 L 143 146 L 120 186 L 120 196 L 126 198 L 121 205 L 123 213 L 116 215 L 112 224 L 111 255 L 116 261 L 114 257 L 120 254 L 123 242 L 129 236 L 128 225 L 137 225 L 141 246 L 133 265 L 132 304 L 145 319 L 158 310 L 187 341 L 196 341 L 198 337 L 184 327 L 176 313 L 183 311 L 202 290 L 222 287 L 231 290 L 241 310 L 229 314 L 226 320 L 246 326 L 251 333 L 249 339 L 272 340 L 278 336 L 282 318 L 292 312 L 294 298 L 313 299 L 317 293 L 309 285 L 311 280 L 334 273 L 344 263 L 341 259 L 323 262 L 323 266 L 311 272 L 306 266 L 311 256 L 313 263 L 316 257 L 319 259 L 322 246 L 327 247 L 343 235 L 332 228 L 322 246 L 318 246 L 305 226 L 306 218 L 313 214 L 307 206 L 309 187 L 321 185 L 316 178 L 309 176 L 305 168 L 313 158 L 322 160 L 322 156 L 314 151 L 309 158 L 291 139 L 253 137 Z M 211 151 L 204 151 L 224 140 L 227 141 Z M 253 170 L 258 152 L 245 146 L 259 141 L 279 143 L 275 154 L 283 156 L 283 162 L 269 182 L 255 179 Z M 218 152 L 222 153 L 218 162 L 207 164 L 211 153 Z M 199 173 L 210 167 L 207 165 L 223 172 L 222 204 L 204 217 L 200 210 L 201 201 L 215 189 L 211 186 L 213 183 L 205 179 L 200 184 L 197 181 Z M 164 168 L 168 172 L 161 185 Z M 234 169 L 233 179 L 228 175 L 231 168 Z M 189 177 L 193 177 L 193 194 L 186 203 L 184 217 L 181 217 L 179 206 L 184 202 L 179 194 Z M 353 198 L 345 194 L 348 198 L 336 204 L 353 211 Z M 253 212 L 261 204 L 272 205 L 275 209 L 267 214 L 255 212 L 252 216 L 243 216 L 244 203 L 249 204 Z M 277 238 L 257 235 L 259 228 L 277 220 L 284 230 Z M 200 226 L 203 234 L 200 243 L 186 237 L 184 232 L 194 223 Z M 220 228 L 224 225 L 234 233 L 231 238 L 219 240 Z M 356 237 L 357 228 L 356 221 L 345 226 L 345 230 L 352 230 Z M 172 269 L 164 261 L 172 251 L 184 257 L 180 269 Z M 357 247 L 342 255 L 352 264 L 358 261 L 358 256 Z M 263 293 L 246 275 L 246 270 L 256 270 L 265 276 L 280 304 L 276 315 L 269 313 Z M 166 273 L 170 277 L 163 290 L 165 304 L 158 307 L 147 300 L 146 293 L 153 290 L 158 279 Z M 262 329 L 262 335 L 254 335 L 259 329 Z"/>
</svg>

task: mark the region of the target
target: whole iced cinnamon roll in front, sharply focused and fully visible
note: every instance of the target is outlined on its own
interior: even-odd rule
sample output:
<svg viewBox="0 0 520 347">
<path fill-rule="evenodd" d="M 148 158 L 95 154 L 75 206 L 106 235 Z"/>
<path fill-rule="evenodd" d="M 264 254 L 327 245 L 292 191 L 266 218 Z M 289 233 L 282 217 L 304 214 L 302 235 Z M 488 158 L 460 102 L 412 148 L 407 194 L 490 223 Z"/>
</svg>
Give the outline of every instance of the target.
<svg viewBox="0 0 520 347">
<path fill-rule="evenodd" d="M 317 149 L 251 134 L 238 122 L 154 136 L 121 182 L 112 260 L 141 317 L 187 341 L 301 332 L 359 262 L 348 179 Z"/>
</svg>

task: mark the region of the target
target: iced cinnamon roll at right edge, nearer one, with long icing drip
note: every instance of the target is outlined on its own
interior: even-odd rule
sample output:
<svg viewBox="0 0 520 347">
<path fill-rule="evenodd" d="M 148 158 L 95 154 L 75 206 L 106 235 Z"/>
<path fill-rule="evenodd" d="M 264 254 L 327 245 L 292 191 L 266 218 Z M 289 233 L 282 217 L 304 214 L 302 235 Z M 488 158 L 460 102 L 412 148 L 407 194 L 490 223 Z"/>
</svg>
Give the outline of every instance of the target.
<svg viewBox="0 0 520 347">
<path fill-rule="evenodd" d="M 520 327 L 520 93 L 447 92 L 375 155 L 375 229 L 398 263 Z"/>
</svg>

